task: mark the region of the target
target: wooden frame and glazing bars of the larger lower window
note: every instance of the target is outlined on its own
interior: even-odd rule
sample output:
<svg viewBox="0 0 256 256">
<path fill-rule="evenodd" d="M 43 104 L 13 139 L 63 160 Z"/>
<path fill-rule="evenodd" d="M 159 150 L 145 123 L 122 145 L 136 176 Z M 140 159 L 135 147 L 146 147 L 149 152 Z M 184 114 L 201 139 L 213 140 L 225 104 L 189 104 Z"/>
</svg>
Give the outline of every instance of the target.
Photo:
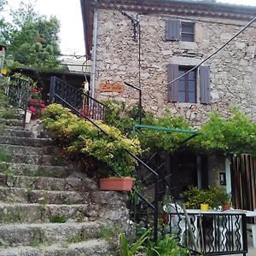
<svg viewBox="0 0 256 256">
<path fill-rule="evenodd" d="M 178 73 L 180 73 L 181 71 L 183 71 L 184 73 L 188 72 L 189 69 L 191 69 L 192 67 L 188 67 L 188 66 L 178 66 Z M 197 79 L 197 69 L 195 69 L 194 71 L 191 71 L 190 73 L 194 73 L 194 79 L 190 80 L 189 79 L 189 73 L 186 74 L 182 79 L 178 79 L 178 88 L 177 88 L 177 102 L 180 103 L 197 103 L 197 93 L 198 93 L 198 79 Z M 180 82 L 184 81 L 184 90 L 180 90 Z M 189 101 L 189 92 L 192 92 L 191 90 L 189 90 L 189 81 L 194 81 L 194 88 L 195 90 L 193 90 L 193 92 L 195 92 L 195 97 L 194 97 L 194 102 L 190 102 Z M 180 101 L 180 93 L 184 92 L 184 102 Z"/>
</svg>

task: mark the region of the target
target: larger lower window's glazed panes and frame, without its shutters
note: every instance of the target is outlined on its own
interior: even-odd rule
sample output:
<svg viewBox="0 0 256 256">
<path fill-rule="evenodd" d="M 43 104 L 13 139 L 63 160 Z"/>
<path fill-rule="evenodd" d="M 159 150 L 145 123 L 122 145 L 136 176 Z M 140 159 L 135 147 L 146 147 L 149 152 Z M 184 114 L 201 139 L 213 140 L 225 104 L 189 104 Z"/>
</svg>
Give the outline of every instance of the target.
<svg viewBox="0 0 256 256">
<path fill-rule="evenodd" d="M 178 76 L 189 71 L 189 67 L 179 67 Z M 196 72 L 190 71 L 178 80 L 178 102 L 196 102 Z"/>
</svg>

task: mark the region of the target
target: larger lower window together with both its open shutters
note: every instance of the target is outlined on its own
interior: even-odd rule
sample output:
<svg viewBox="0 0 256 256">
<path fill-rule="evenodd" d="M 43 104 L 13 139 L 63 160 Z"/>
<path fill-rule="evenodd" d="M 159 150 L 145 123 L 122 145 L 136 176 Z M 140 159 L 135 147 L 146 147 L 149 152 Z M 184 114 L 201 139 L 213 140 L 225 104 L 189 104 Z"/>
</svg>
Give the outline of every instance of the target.
<svg viewBox="0 0 256 256">
<path fill-rule="evenodd" d="M 189 71 L 190 67 L 183 67 L 177 64 L 168 65 L 168 101 L 169 102 L 190 102 L 209 104 L 210 96 L 210 70 L 209 67 L 201 66 L 198 70 L 189 72 L 182 79 L 177 79 L 183 73 Z M 170 84 L 172 82 L 172 84 Z"/>
</svg>

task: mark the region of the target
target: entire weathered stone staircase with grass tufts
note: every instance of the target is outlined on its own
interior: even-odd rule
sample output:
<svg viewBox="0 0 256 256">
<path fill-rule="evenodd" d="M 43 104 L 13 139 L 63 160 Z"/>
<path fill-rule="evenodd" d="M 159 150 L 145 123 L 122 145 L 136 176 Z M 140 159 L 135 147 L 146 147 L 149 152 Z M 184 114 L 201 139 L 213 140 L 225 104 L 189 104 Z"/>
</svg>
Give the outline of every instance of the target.
<svg viewBox="0 0 256 256">
<path fill-rule="evenodd" d="M 21 120 L 0 125 L 0 256 L 117 255 L 106 237 L 127 223 L 124 195 L 99 191 Z"/>
</svg>

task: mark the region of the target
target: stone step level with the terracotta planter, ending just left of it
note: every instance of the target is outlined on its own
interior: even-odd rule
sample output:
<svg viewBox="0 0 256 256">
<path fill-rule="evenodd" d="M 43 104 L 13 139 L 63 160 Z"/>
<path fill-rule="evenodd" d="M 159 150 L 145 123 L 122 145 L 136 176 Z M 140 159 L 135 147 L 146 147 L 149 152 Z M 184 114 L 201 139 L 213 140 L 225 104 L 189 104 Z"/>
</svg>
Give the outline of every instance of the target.
<svg viewBox="0 0 256 256">
<path fill-rule="evenodd" d="M 20 189 L 93 191 L 97 190 L 96 182 L 85 175 L 79 177 L 28 177 L 0 173 L 0 186 Z"/>
</svg>

